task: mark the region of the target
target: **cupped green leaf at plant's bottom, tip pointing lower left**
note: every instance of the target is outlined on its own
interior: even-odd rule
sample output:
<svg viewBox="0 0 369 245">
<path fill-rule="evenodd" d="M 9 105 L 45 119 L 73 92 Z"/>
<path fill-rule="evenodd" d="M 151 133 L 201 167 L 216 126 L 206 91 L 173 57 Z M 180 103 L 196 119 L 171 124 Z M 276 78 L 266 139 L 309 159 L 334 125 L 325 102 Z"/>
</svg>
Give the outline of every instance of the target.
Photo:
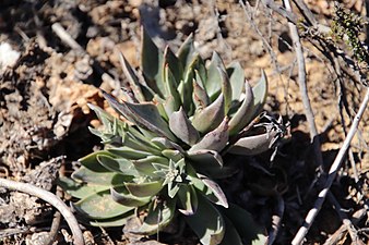
<svg viewBox="0 0 369 245">
<path fill-rule="evenodd" d="M 164 203 L 157 204 L 156 200 L 152 201 L 148 207 L 147 217 L 140 229 L 130 231 L 143 235 L 152 235 L 162 231 L 167 226 L 176 209 L 176 199 L 166 199 Z"/>
</svg>

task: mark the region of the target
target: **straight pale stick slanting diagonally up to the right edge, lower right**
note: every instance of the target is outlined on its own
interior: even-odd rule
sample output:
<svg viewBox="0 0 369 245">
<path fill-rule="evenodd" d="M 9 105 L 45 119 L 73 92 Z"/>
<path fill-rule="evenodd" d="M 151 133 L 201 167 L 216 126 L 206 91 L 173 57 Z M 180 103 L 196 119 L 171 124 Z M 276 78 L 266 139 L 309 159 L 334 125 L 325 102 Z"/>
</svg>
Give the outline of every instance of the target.
<svg viewBox="0 0 369 245">
<path fill-rule="evenodd" d="M 320 209 L 322 208 L 322 205 L 325 200 L 326 194 L 329 192 L 329 189 L 331 188 L 331 185 L 337 174 L 337 170 L 341 167 L 341 163 L 346 155 L 346 151 L 357 132 L 357 127 L 359 125 L 359 122 L 361 120 L 361 117 L 368 106 L 368 101 L 369 101 L 369 88 L 367 88 L 367 93 L 365 95 L 365 98 L 360 105 L 359 111 L 357 112 L 357 114 L 355 115 L 355 119 L 353 121 L 352 126 L 349 127 L 347 137 L 345 138 L 343 146 L 341 147 L 336 158 L 334 159 L 334 162 L 330 169 L 326 182 L 324 184 L 324 188 L 319 193 L 318 195 L 318 199 L 316 200 L 314 207 L 312 209 L 310 209 L 310 211 L 308 212 L 303 225 L 299 229 L 299 231 L 297 232 L 295 238 L 293 240 L 293 245 L 298 245 L 301 244 L 306 234 L 308 233 L 312 222 L 314 221 L 318 212 L 320 211 Z"/>
</svg>

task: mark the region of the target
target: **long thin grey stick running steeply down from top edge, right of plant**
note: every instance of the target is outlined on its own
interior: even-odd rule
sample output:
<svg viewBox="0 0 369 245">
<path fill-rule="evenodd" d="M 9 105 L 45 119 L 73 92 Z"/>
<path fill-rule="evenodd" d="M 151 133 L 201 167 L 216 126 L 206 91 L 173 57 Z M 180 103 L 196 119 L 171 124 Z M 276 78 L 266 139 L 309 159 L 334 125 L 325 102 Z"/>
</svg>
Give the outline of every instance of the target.
<svg viewBox="0 0 369 245">
<path fill-rule="evenodd" d="M 284 0 L 286 10 L 291 11 L 289 0 Z M 294 41 L 294 47 L 296 51 L 296 57 L 297 57 L 297 64 L 298 64 L 298 84 L 300 88 L 300 94 L 302 97 L 302 103 L 303 103 L 303 110 L 305 114 L 307 117 L 308 123 L 309 123 L 309 130 L 310 130 L 310 137 L 311 137 L 311 143 L 313 144 L 314 148 L 314 156 L 316 156 L 316 161 L 317 164 L 320 167 L 322 170 L 323 166 L 323 157 L 322 152 L 320 150 L 320 140 L 318 136 L 318 130 L 316 125 L 316 120 L 314 120 L 314 113 L 312 112 L 310 99 L 308 96 L 308 86 L 306 83 L 306 65 L 305 65 L 305 58 L 303 58 L 303 50 L 300 41 L 300 37 L 298 35 L 297 27 L 294 23 L 288 22 L 288 27 L 290 30 L 291 39 Z"/>
</svg>

